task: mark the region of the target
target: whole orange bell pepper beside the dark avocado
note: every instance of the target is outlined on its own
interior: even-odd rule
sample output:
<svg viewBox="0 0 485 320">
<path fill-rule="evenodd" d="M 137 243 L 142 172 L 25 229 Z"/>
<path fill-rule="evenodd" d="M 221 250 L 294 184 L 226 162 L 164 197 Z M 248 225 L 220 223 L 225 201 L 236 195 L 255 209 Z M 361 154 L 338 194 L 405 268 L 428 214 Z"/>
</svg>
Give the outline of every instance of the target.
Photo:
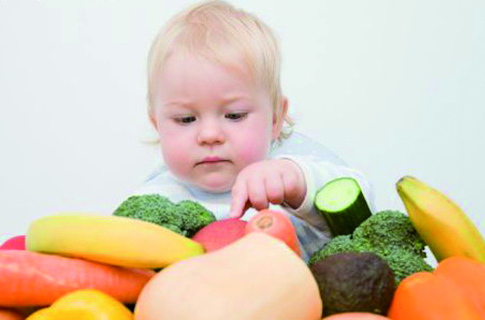
<svg viewBox="0 0 485 320">
<path fill-rule="evenodd" d="M 470 258 L 450 257 L 433 273 L 404 279 L 388 312 L 392 320 L 485 319 L 485 266 Z"/>
</svg>

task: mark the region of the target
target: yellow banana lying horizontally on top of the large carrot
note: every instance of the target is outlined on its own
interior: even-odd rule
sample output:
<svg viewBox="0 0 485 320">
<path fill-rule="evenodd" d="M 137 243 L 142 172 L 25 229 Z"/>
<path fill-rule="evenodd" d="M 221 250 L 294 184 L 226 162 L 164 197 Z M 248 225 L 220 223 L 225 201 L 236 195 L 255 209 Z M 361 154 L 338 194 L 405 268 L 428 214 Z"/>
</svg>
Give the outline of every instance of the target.
<svg viewBox="0 0 485 320">
<path fill-rule="evenodd" d="M 33 221 L 26 248 L 136 268 L 161 268 L 204 253 L 198 242 L 161 226 L 88 214 L 60 214 Z"/>
</svg>

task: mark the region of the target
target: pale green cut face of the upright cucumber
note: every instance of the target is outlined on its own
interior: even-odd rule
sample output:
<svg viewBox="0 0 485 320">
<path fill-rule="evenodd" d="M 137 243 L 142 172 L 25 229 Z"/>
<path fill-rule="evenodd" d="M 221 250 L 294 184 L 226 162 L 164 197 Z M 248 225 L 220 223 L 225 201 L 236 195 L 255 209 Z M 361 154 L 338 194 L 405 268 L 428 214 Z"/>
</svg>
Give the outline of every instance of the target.
<svg viewBox="0 0 485 320">
<path fill-rule="evenodd" d="M 327 183 L 315 197 L 318 209 L 339 212 L 350 207 L 357 199 L 360 187 L 353 178 L 338 178 Z"/>
</svg>

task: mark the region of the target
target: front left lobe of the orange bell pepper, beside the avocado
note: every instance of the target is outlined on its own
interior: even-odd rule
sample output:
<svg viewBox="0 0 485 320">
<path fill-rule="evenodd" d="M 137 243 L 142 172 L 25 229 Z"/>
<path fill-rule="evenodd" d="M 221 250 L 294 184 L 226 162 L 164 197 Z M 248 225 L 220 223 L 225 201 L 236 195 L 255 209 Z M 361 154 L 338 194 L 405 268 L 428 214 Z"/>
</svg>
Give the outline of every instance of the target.
<svg viewBox="0 0 485 320">
<path fill-rule="evenodd" d="M 401 282 L 387 315 L 392 320 L 483 320 L 480 310 L 458 285 L 428 272 Z"/>
</svg>

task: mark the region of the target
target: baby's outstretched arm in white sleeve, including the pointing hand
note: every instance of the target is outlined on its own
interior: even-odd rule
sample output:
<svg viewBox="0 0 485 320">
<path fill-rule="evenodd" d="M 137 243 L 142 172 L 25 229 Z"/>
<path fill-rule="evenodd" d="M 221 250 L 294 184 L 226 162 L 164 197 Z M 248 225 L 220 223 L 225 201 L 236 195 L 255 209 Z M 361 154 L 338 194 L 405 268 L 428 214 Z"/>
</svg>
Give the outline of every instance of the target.
<svg viewBox="0 0 485 320">
<path fill-rule="evenodd" d="M 232 188 L 230 216 L 239 217 L 249 207 L 261 210 L 270 203 L 280 204 L 313 227 L 328 230 L 313 205 L 314 198 L 320 187 L 339 177 L 356 179 L 371 211 L 375 211 L 371 185 L 358 171 L 315 157 L 281 155 L 241 170 Z"/>
</svg>

